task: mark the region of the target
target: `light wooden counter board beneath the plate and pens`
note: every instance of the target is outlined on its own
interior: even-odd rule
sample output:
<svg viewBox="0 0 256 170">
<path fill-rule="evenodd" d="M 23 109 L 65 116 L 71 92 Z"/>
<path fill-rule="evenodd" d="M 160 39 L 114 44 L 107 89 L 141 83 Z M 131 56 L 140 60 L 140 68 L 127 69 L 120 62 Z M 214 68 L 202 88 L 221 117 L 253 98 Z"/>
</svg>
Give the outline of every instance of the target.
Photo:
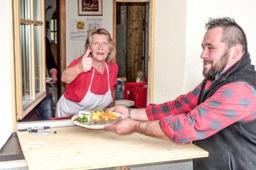
<svg viewBox="0 0 256 170">
<path fill-rule="evenodd" d="M 140 133 L 117 135 L 103 129 L 56 127 L 51 135 L 17 132 L 29 169 L 96 169 L 208 156 L 194 144 L 177 145 Z"/>
</svg>

